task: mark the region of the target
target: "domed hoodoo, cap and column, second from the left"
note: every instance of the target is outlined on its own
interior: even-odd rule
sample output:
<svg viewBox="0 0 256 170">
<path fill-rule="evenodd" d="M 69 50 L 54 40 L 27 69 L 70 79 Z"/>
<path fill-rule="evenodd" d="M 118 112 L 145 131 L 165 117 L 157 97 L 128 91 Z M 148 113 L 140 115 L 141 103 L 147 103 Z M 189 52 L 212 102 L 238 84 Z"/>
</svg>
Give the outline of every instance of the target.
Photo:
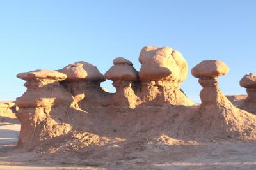
<svg viewBox="0 0 256 170">
<path fill-rule="evenodd" d="M 82 101 L 83 105 L 97 105 L 108 97 L 100 87 L 100 82 L 106 81 L 106 78 L 92 64 L 83 61 L 75 62 L 58 71 L 67 75 L 63 84 L 73 95 L 74 101 L 71 104 L 73 108 L 81 110 L 82 106 L 79 103 Z"/>
</svg>

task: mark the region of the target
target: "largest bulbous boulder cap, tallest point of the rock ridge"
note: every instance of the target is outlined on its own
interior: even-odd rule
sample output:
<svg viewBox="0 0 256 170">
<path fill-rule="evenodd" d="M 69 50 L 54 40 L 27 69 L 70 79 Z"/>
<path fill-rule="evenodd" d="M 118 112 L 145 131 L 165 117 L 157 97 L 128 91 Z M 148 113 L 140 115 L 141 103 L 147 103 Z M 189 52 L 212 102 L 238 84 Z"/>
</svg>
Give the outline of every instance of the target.
<svg viewBox="0 0 256 170">
<path fill-rule="evenodd" d="M 146 46 L 140 52 L 142 64 L 139 72 L 141 81 L 177 80 L 185 81 L 188 64 L 182 54 L 165 46 Z"/>
</svg>

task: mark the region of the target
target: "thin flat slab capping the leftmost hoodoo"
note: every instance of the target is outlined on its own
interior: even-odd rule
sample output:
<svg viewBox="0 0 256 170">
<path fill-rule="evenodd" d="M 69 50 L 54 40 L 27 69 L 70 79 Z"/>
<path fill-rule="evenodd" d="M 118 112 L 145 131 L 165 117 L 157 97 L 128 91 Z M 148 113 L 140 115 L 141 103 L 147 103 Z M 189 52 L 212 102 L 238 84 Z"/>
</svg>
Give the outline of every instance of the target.
<svg viewBox="0 0 256 170">
<path fill-rule="evenodd" d="M 19 73 L 17 74 L 17 78 L 20 78 L 26 81 L 35 80 L 35 79 L 51 79 L 51 80 L 62 81 L 62 80 L 65 80 L 67 76 L 58 71 L 38 69 L 35 71 L 29 71 L 26 73 Z"/>
</svg>

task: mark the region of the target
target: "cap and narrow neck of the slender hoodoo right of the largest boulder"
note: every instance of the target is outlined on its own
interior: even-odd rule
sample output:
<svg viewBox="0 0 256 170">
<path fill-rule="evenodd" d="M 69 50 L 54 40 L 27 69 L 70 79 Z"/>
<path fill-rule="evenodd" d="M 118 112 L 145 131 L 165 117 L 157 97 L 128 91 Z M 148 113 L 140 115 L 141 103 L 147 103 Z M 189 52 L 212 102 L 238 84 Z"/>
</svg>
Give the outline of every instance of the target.
<svg viewBox="0 0 256 170">
<path fill-rule="evenodd" d="M 219 60 L 204 60 L 193 67 L 191 73 L 194 77 L 199 78 L 198 82 L 203 87 L 200 92 L 202 105 L 221 104 L 232 107 L 230 101 L 220 91 L 217 80 L 218 76 L 223 76 L 228 71 L 228 66 Z"/>
</svg>

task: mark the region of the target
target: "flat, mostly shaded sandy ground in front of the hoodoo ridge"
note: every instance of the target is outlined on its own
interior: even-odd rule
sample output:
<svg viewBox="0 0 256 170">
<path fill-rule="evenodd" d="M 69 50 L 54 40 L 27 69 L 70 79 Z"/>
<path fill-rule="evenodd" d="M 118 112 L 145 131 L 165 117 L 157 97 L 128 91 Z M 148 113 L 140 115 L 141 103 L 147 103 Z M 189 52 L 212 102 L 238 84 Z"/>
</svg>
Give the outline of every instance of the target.
<svg viewBox="0 0 256 170">
<path fill-rule="evenodd" d="M 0 169 L 256 169 L 256 141 L 144 143 L 114 162 L 90 162 L 81 153 L 61 153 L 58 160 L 51 153 L 21 152 L 15 148 L 19 129 L 19 124 L 0 123 Z"/>
</svg>

